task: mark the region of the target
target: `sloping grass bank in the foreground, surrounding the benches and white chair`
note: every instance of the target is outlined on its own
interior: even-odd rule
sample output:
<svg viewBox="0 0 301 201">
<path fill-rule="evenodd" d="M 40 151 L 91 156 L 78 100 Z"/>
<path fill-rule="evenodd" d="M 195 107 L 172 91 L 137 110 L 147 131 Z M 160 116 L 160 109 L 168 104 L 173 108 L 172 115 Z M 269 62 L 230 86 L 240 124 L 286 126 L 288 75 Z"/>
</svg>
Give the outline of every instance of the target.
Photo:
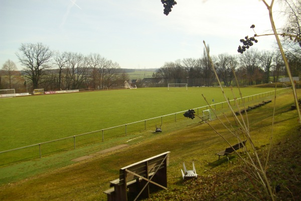
<svg viewBox="0 0 301 201">
<path fill-rule="evenodd" d="M 252 139 L 263 153 L 269 144 L 273 102 L 248 113 Z M 296 112 L 290 111 L 292 103 L 291 93 L 277 97 L 271 161 L 267 170 L 272 184 L 281 183 L 277 196 L 283 200 L 300 199 L 300 134 Z M 110 180 L 118 177 L 120 167 L 166 151 L 171 151 L 169 190 L 153 193 L 149 200 L 250 200 L 239 187 L 229 184 L 231 180 L 255 194 L 239 160 L 233 156 L 230 162 L 225 157 L 217 161 L 218 157 L 214 155 L 228 145 L 208 125 L 200 125 L 197 118 L 187 121 L 191 121 L 189 126 L 170 132 L 163 130 L 144 141 L 130 141 L 131 145 L 122 150 L 2 185 L 0 200 L 105 200 L 106 195 L 102 191 L 109 188 Z M 218 121 L 210 124 L 231 143 L 236 143 Z M 193 160 L 199 178 L 183 182 L 180 171 L 183 162 L 191 168 Z M 53 163 L 48 162 L 49 165 Z"/>
</svg>

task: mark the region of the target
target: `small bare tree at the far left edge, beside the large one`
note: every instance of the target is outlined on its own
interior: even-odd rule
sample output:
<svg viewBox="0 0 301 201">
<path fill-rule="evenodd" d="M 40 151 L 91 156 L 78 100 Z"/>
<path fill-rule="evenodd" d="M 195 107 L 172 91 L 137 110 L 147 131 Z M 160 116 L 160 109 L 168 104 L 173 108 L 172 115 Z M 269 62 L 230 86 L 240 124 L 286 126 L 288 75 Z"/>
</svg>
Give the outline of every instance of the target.
<svg viewBox="0 0 301 201">
<path fill-rule="evenodd" d="M 5 88 L 14 88 L 15 84 L 17 84 L 20 79 L 18 79 L 17 76 L 20 76 L 21 73 L 18 70 L 16 64 L 11 61 L 10 59 L 7 60 L 1 70 L 0 70 L 0 74 L 1 76 L 3 76 L 2 78 L 2 82 L 4 82 L 5 84 L 2 84 Z"/>
</svg>

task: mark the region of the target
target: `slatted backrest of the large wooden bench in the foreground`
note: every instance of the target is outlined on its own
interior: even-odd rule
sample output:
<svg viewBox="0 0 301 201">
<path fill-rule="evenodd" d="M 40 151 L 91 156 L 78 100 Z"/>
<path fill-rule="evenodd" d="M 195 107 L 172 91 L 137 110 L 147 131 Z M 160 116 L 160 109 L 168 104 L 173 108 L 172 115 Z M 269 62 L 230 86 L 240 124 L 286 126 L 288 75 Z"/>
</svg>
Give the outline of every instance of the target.
<svg viewBox="0 0 301 201">
<path fill-rule="evenodd" d="M 135 174 L 138 174 L 145 178 L 148 178 L 148 175 L 156 172 L 157 169 L 159 169 L 158 172 L 160 172 L 161 169 L 165 170 L 164 172 L 166 174 L 166 169 L 169 164 L 169 153 L 170 152 L 165 152 L 120 168 L 119 184 L 124 184 L 138 178 L 138 176 L 128 173 L 126 170 L 134 172 Z M 161 163 L 162 165 L 160 166 Z"/>
</svg>

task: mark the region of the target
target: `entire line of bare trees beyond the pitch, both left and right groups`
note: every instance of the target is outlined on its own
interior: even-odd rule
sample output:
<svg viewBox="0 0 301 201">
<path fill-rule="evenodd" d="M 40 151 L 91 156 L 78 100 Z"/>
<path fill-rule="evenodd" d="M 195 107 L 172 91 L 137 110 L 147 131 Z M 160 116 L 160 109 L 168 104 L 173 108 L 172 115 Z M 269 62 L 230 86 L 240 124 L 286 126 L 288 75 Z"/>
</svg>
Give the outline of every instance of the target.
<svg viewBox="0 0 301 201">
<path fill-rule="evenodd" d="M 74 52 L 60 53 L 51 51 L 42 43 L 22 44 L 19 50 L 21 53 L 17 56 L 24 68 L 18 71 L 16 64 L 8 60 L 0 70 L 0 89 L 20 88 L 25 84 L 31 89 L 44 90 L 120 87 L 125 80 L 129 80 L 127 72 L 132 70 L 122 69 L 117 62 L 97 53 L 87 56 Z M 250 49 L 244 54 L 223 53 L 211 58 L 226 86 L 235 85 L 233 70 L 240 85 L 275 82 L 286 75 L 284 62 L 276 50 Z M 288 61 L 293 76 L 299 76 L 299 60 L 288 54 Z M 168 83 L 212 86 L 216 82 L 205 48 L 200 58 L 166 62 L 153 73 L 153 79 L 161 84 L 139 83 L 139 86 L 167 86 Z"/>
</svg>

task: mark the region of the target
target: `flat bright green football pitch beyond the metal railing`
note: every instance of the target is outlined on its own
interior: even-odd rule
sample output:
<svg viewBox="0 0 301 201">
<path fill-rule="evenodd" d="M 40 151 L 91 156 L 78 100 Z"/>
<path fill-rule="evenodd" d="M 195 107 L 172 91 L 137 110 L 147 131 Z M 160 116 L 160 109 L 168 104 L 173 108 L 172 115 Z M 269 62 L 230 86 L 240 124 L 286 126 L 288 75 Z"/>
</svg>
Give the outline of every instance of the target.
<svg viewBox="0 0 301 201">
<path fill-rule="evenodd" d="M 241 88 L 243 96 L 273 88 Z M 224 88 L 233 99 L 230 88 Z M 233 88 L 239 97 L 237 88 Z M 1 98 L 0 151 L 224 102 L 219 87 L 167 87 Z M 213 102 L 214 100 L 214 102 Z M 155 124 L 160 124 L 155 120 Z"/>
</svg>

